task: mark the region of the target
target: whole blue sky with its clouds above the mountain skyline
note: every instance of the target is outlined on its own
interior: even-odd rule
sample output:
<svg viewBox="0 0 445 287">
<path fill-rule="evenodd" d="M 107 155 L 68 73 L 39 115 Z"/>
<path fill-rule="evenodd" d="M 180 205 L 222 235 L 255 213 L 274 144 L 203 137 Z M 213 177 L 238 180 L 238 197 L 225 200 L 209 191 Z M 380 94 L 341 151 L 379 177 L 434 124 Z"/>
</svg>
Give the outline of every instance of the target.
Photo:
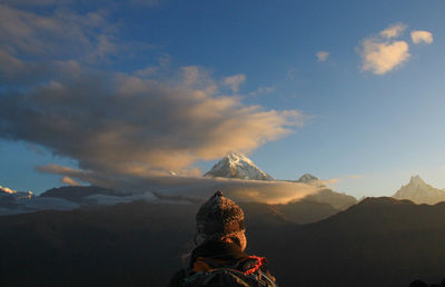
<svg viewBox="0 0 445 287">
<path fill-rule="evenodd" d="M 445 188 L 444 1 L 0 0 L 0 186 L 199 177 Z"/>
</svg>

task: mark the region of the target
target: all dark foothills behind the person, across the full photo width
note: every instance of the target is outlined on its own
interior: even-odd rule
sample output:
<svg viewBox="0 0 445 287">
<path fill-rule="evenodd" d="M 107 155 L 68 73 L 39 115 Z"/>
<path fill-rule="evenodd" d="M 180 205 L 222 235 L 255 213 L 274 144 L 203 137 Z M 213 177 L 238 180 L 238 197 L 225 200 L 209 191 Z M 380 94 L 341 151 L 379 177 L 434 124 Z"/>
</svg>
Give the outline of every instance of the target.
<svg viewBox="0 0 445 287">
<path fill-rule="evenodd" d="M 166 286 L 199 205 L 134 201 L 0 217 L 0 286 Z M 408 286 L 445 277 L 445 204 L 367 198 L 319 222 L 241 204 L 248 253 L 279 286 Z"/>
</svg>

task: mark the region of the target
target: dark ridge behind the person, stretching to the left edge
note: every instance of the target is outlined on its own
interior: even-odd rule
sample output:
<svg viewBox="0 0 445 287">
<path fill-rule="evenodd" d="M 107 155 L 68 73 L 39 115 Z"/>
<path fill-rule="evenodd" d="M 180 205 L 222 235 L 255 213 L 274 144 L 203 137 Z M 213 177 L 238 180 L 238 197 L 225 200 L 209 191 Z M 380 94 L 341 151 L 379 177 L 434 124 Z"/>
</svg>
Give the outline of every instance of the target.
<svg viewBox="0 0 445 287">
<path fill-rule="evenodd" d="M 296 226 L 265 204 L 241 206 L 253 241 Z M 139 200 L 2 216 L 0 286 L 167 286 L 194 248 L 198 208 Z"/>
</svg>

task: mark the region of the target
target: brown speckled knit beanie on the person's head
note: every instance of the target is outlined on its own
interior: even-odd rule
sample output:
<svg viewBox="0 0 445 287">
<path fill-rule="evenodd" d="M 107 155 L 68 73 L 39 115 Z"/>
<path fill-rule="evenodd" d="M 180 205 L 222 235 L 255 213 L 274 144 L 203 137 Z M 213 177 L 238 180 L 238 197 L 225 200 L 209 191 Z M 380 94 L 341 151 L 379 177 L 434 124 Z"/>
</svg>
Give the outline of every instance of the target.
<svg viewBox="0 0 445 287">
<path fill-rule="evenodd" d="M 216 191 L 196 215 L 195 243 L 201 245 L 208 240 L 230 238 L 246 249 L 247 240 L 244 227 L 243 209 L 221 191 Z"/>
</svg>

